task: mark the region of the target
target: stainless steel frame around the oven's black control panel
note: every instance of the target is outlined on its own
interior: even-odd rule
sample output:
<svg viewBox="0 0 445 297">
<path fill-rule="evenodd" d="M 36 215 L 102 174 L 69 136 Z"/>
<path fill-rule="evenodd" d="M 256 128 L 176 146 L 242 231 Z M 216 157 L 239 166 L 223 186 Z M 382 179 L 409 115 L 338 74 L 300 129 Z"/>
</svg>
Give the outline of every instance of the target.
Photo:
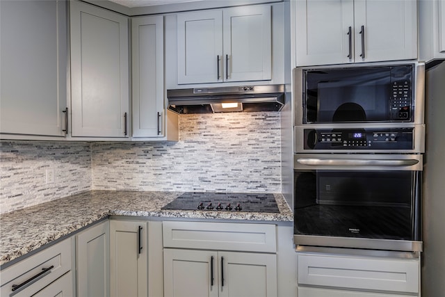
<svg viewBox="0 0 445 297">
<path fill-rule="evenodd" d="M 423 153 L 425 152 L 425 125 L 424 124 L 416 124 L 416 125 L 405 125 L 405 124 L 390 124 L 390 123 L 382 123 L 382 124 L 362 124 L 359 125 L 357 123 L 355 124 L 339 124 L 335 125 L 335 129 L 363 129 L 363 128 L 375 128 L 375 129 L 382 129 L 382 128 L 414 128 L 414 135 L 413 135 L 413 141 L 414 141 L 414 148 L 412 150 L 360 150 L 360 149 L 350 149 L 350 150 L 306 150 L 304 145 L 304 139 L 305 139 L 305 129 L 332 129 L 332 125 L 302 125 L 298 127 L 293 127 L 293 139 L 294 139 L 294 146 L 293 150 L 296 153 L 328 153 L 328 152 L 335 152 L 337 154 L 344 154 L 349 152 L 357 152 L 362 154 L 368 154 L 368 153 L 374 153 L 374 152 L 380 152 L 380 153 Z"/>
</svg>

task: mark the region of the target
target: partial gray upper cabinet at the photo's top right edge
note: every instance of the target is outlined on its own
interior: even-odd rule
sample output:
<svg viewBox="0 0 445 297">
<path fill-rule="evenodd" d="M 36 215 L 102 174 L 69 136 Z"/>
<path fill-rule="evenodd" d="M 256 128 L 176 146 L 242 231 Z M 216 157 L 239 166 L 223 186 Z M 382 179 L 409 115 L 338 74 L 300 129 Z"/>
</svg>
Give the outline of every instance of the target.
<svg viewBox="0 0 445 297">
<path fill-rule="evenodd" d="M 419 59 L 445 58 L 445 0 L 419 1 Z"/>
</svg>

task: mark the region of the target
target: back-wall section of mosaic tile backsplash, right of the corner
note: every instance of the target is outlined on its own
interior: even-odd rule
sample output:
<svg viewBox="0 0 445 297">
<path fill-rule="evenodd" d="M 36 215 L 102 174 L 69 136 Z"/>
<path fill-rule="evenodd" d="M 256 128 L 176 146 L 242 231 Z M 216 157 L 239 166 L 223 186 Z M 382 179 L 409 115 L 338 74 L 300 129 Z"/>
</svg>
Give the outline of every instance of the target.
<svg viewBox="0 0 445 297">
<path fill-rule="evenodd" d="M 177 143 L 94 143 L 92 188 L 281 193 L 280 113 L 180 115 Z"/>
</svg>

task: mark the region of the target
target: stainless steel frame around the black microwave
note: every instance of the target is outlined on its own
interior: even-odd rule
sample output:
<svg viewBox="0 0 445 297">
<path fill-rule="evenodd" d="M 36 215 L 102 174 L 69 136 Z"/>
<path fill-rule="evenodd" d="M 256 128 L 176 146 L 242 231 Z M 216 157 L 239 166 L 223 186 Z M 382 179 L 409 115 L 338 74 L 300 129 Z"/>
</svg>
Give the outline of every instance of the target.
<svg viewBox="0 0 445 297">
<path fill-rule="evenodd" d="M 294 126 L 307 125 L 303 124 L 303 109 L 302 109 L 302 95 L 304 93 L 304 81 L 303 81 L 303 70 L 314 69 L 334 69 L 334 68 L 352 68 L 352 67 L 380 67 L 380 66 L 391 66 L 391 65 L 414 65 L 414 82 L 412 84 L 414 88 L 414 122 L 407 124 L 424 124 L 424 113 L 425 113 L 425 63 L 413 62 L 413 61 L 391 61 L 382 63 L 356 63 L 356 64 L 342 64 L 342 65 L 322 65 L 322 66 L 305 66 L 293 68 L 293 113 L 294 113 Z M 390 122 L 385 123 L 388 126 L 393 125 Z M 323 124 L 315 124 L 323 125 Z M 329 124 L 330 127 L 340 127 L 337 124 Z M 339 124 L 341 125 L 341 124 Z M 391 126 L 392 127 L 392 126 Z"/>
</svg>

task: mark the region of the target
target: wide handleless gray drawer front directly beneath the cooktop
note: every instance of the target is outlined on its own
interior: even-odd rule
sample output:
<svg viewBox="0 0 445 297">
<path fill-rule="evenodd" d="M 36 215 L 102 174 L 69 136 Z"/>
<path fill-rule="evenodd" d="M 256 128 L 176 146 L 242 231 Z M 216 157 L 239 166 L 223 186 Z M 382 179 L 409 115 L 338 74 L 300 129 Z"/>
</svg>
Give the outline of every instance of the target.
<svg viewBox="0 0 445 297">
<path fill-rule="evenodd" d="M 164 248 L 276 252 L 275 225 L 163 222 Z"/>
</svg>

